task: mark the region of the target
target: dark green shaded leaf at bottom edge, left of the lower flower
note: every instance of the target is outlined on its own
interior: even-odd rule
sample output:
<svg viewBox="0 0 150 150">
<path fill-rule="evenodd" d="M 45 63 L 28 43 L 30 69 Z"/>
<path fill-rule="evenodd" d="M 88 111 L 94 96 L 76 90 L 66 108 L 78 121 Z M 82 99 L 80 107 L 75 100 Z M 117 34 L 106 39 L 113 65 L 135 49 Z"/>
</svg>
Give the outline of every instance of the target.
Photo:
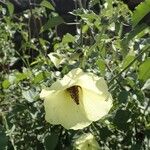
<svg viewBox="0 0 150 150">
<path fill-rule="evenodd" d="M 58 143 L 57 134 L 51 134 L 47 136 L 44 140 L 46 150 L 55 150 L 57 143 Z"/>
</svg>

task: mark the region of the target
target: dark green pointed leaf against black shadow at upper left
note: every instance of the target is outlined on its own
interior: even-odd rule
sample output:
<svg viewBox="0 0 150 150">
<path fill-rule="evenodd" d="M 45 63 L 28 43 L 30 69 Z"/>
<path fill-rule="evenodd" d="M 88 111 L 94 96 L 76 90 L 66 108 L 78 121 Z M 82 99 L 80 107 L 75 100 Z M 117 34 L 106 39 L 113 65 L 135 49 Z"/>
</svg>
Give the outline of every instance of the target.
<svg viewBox="0 0 150 150">
<path fill-rule="evenodd" d="M 51 17 L 51 18 L 49 18 L 47 23 L 41 28 L 41 32 L 49 30 L 63 22 L 64 22 L 64 20 L 60 16 Z"/>
</svg>

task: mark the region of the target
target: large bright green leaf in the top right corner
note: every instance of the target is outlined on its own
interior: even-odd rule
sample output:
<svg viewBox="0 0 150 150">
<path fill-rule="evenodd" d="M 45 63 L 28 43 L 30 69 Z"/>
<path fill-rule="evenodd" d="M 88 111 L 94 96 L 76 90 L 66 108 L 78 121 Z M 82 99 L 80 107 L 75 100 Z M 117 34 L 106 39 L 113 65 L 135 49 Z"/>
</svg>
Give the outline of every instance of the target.
<svg viewBox="0 0 150 150">
<path fill-rule="evenodd" d="M 142 18 L 144 18 L 150 12 L 150 0 L 145 0 L 141 4 L 139 4 L 132 16 L 132 24 L 136 26 Z"/>
</svg>

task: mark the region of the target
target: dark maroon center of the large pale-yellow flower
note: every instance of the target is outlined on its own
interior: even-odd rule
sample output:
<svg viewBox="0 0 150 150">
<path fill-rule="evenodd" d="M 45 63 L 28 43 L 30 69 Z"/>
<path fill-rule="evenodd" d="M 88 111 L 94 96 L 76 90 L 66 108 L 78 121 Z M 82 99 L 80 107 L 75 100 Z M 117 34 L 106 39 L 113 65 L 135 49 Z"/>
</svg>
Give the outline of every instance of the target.
<svg viewBox="0 0 150 150">
<path fill-rule="evenodd" d="M 74 100 L 74 102 L 79 105 L 79 90 L 81 89 L 80 86 L 74 85 L 70 88 L 67 88 L 67 91 L 69 92 L 71 98 Z"/>
</svg>

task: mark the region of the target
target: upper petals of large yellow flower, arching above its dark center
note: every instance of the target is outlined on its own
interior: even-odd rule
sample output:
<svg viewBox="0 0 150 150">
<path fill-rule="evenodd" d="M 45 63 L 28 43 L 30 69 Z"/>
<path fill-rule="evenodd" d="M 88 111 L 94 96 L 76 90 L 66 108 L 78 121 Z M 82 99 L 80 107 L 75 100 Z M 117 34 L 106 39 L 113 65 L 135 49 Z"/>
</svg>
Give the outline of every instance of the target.
<svg viewBox="0 0 150 150">
<path fill-rule="evenodd" d="M 107 85 L 103 78 L 99 78 L 92 73 L 85 73 L 80 68 L 73 69 L 61 80 L 52 84 L 50 89 L 65 90 L 68 87 L 79 85 L 97 93 L 107 91 Z"/>
</svg>

